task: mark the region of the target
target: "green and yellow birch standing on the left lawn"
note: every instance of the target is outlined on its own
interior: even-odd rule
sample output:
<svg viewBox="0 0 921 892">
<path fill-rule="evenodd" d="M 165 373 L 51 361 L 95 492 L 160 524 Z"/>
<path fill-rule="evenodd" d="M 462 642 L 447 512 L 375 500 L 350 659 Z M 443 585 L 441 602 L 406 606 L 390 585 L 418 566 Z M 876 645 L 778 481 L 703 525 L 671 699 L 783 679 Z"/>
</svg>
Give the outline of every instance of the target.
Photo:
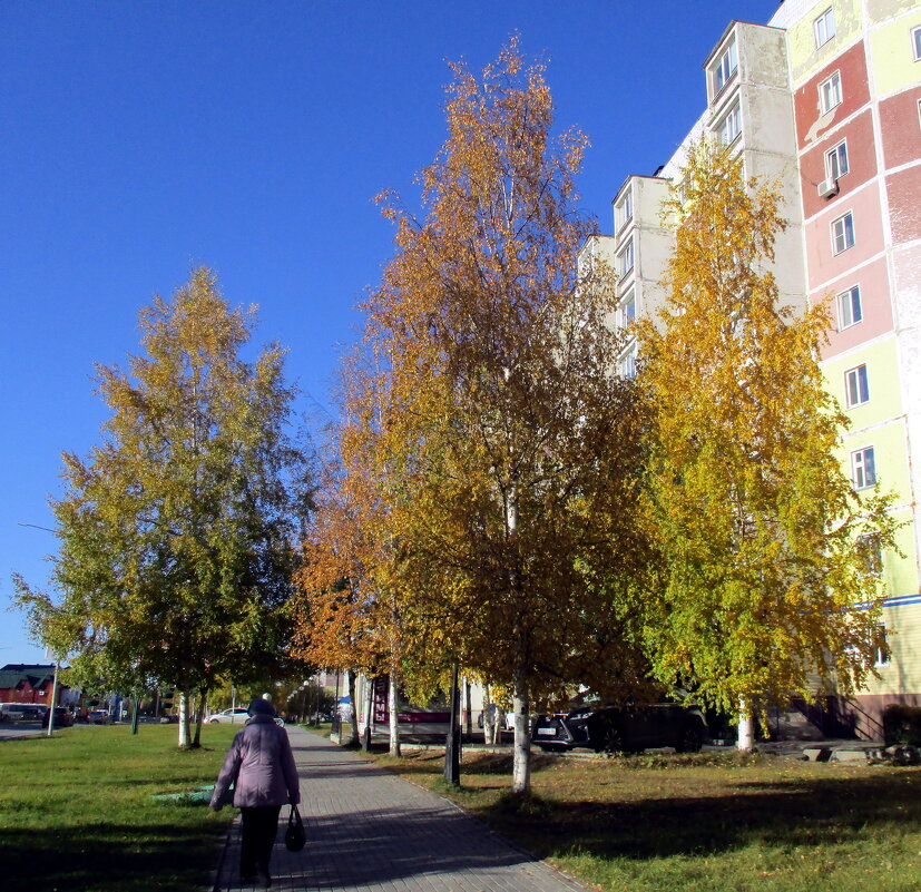
<svg viewBox="0 0 921 892">
<path fill-rule="evenodd" d="M 286 432 L 284 351 L 243 359 L 253 312 L 232 310 L 204 268 L 141 311 L 143 353 L 126 371 L 97 366 L 102 442 L 63 455 L 60 597 L 19 585 L 40 637 L 78 670 L 175 686 L 180 746 L 192 692 L 203 706 L 216 678 L 258 675 L 286 646 L 306 463 Z"/>
</svg>

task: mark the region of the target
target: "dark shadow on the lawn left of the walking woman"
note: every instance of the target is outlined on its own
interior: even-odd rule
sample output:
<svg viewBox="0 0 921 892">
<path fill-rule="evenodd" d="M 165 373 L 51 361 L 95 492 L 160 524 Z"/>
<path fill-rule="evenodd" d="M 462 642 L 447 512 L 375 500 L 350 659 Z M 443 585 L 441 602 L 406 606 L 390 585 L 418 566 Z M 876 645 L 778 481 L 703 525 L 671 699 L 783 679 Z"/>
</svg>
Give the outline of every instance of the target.
<svg viewBox="0 0 921 892">
<path fill-rule="evenodd" d="M 90 824 L 53 834 L 4 830 L 4 892 L 141 892 L 205 888 L 226 835 L 223 823 Z"/>
</svg>

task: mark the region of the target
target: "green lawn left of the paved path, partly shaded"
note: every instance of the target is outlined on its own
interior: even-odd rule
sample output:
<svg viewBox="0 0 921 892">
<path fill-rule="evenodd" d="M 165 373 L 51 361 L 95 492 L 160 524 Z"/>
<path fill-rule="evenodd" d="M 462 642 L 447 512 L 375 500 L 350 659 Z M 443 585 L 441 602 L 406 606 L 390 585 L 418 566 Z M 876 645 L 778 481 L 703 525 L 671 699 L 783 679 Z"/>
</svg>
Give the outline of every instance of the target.
<svg viewBox="0 0 921 892">
<path fill-rule="evenodd" d="M 205 725 L 179 752 L 176 725 L 65 728 L 0 741 L 0 888 L 130 892 L 206 886 L 234 811 L 151 794 L 213 784 L 239 727 Z"/>
</svg>

